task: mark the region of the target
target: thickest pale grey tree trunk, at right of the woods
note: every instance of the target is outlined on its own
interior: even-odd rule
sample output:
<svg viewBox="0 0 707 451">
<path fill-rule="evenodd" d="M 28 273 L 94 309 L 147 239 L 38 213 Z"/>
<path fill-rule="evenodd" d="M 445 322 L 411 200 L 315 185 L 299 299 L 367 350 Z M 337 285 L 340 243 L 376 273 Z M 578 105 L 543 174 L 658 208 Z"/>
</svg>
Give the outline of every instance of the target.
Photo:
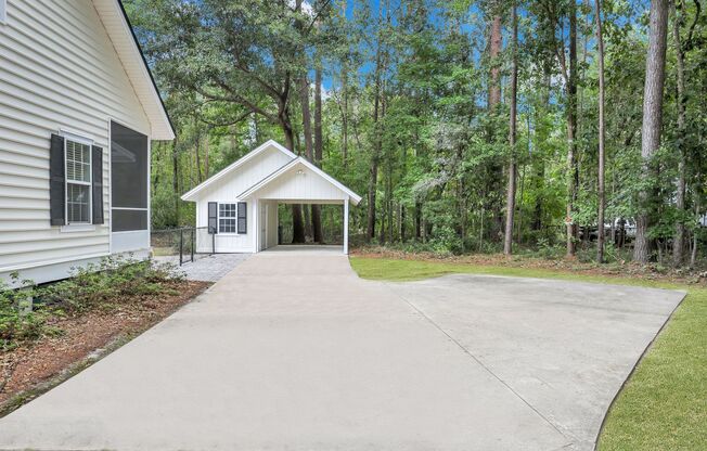
<svg viewBox="0 0 707 451">
<path fill-rule="evenodd" d="M 643 126 L 641 128 L 641 157 L 644 182 L 654 177 L 652 159 L 660 146 L 660 129 L 663 126 L 663 89 L 665 87 L 666 46 L 668 34 L 668 0 L 651 1 L 651 18 L 648 26 L 648 53 L 645 66 L 645 85 L 643 88 Z M 648 202 L 652 190 L 644 190 L 639 195 L 640 212 L 637 218 L 635 243 L 633 259 L 645 263 L 648 261 L 648 227 L 652 215 Z"/>
</svg>

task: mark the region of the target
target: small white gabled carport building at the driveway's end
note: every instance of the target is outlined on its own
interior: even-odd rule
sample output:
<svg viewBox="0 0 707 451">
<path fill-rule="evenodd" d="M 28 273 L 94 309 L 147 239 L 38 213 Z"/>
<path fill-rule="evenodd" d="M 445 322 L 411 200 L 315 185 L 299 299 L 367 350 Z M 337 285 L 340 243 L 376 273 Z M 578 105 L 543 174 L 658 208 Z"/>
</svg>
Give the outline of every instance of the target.
<svg viewBox="0 0 707 451">
<path fill-rule="evenodd" d="M 198 252 L 258 253 L 278 245 L 278 205 L 342 205 L 348 254 L 349 204 L 361 196 L 287 149 L 268 141 L 181 197 L 196 203 Z"/>
</svg>

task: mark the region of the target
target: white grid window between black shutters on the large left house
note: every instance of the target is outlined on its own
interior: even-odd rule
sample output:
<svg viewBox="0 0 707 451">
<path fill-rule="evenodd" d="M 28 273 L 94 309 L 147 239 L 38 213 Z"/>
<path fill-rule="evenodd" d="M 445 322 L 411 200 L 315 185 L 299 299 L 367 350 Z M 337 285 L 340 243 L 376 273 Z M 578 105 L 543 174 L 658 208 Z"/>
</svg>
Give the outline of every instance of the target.
<svg viewBox="0 0 707 451">
<path fill-rule="evenodd" d="M 91 143 L 64 140 L 66 162 L 66 222 L 91 222 Z"/>
</svg>

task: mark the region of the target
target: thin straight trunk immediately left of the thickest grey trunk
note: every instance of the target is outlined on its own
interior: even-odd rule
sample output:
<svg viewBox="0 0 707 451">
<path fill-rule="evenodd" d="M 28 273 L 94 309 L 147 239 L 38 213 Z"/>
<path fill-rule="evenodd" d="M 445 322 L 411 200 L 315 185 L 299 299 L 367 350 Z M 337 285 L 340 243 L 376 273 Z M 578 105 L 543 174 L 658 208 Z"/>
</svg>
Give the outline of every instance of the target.
<svg viewBox="0 0 707 451">
<path fill-rule="evenodd" d="M 602 34 L 602 8 L 601 0 L 594 0 L 594 15 L 596 16 L 596 50 L 599 52 L 599 211 L 596 230 L 596 262 L 604 262 L 604 211 L 606 209 L 606 196 L 604 193 L 604 160 L 605 147 L 605 118 L 604 118 L 604 37 Z"/>
</svg>

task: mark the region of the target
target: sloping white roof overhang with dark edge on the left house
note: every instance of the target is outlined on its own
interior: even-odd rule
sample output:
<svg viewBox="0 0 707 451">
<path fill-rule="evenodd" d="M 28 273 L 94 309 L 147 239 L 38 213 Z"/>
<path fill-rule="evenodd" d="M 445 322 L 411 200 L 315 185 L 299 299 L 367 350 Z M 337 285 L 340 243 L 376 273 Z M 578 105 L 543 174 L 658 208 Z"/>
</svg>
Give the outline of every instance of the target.
<svg viewBox="0 0 707 451">
<path fill-rule="evenodd" d="M 120 0 L 93 0 L 93 5 L 150 120 L 151 138 L 173 140 L 175 128 L 123 3 Z"/>
</svg>

